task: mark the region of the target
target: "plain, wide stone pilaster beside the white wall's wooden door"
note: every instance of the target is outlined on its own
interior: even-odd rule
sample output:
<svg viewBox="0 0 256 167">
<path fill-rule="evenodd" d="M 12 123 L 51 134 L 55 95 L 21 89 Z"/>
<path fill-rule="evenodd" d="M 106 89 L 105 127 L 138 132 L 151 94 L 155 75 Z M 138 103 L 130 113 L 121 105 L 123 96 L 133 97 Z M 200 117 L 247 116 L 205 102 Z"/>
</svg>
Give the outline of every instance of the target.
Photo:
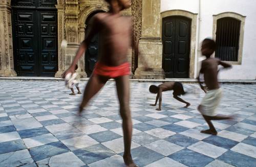
<svg viewBox="0 0 256 167">
<path fill-rule="evenodd" d="M 135 78 L 163 79 L 162 69 L 162 41 L 160 35 L 160 3 L 161 0 L 143 0 L 142 2 L 142 30 L 139 40 L 138 68 Z M 145 58 L 143 60 L 142 56 Z M 149 61 L 148 61 L 149 60 Z M 144 70 L 144 61 L 153 71 Z"/>
</svg>

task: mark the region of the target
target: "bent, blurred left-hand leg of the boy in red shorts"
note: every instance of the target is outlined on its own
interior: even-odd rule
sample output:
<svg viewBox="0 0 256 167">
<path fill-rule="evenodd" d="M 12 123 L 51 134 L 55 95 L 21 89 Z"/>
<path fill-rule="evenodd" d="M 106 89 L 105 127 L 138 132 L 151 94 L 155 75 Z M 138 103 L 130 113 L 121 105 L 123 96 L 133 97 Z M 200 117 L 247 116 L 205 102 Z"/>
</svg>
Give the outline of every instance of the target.
<svg viewBox="0 0 256 167">
<path fill-rule="evenodd" d="M 82 112 L 83 107 L 85 107 L 88 102 L 92 99 L 92 97 L 104 86 L 106 81 L 109 78 L 99 76 L 99 75 L 92 75 L 84 89 L 82 102 L 79 107 L 79 114 Z"/>
</svg>

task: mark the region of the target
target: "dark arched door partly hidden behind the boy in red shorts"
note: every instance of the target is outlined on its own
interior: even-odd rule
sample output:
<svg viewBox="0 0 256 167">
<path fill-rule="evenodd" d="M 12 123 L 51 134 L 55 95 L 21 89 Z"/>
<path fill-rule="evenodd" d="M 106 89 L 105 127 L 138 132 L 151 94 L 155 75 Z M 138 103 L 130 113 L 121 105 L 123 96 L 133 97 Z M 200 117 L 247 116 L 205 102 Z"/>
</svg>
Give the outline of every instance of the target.
<svg viewBox="0 0 256 167">
<path fill-rule="evenodd" d="M 98 12 L 97 12 L 98 13 Z M 92 13 L 86 20 L 86 36 L 92 29 L 91 18 L 96 13 Z M 91 76 L 94 66 L 98 60 L 99 55 L 99 33 L 97 33 L 91 40 L 88 49 L 86 51 L 86 73 L 87 76 Z"/>
</svg>

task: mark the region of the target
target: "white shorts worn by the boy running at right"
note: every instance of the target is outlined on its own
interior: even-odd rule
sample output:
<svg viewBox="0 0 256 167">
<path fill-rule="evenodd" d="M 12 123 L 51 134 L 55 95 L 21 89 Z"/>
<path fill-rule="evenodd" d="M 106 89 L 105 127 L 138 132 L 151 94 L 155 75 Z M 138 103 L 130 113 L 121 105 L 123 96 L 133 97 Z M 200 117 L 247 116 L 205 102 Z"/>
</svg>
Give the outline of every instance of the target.
<svg viewBox="0 0 256 167">
<path fill-rule="evenodd" d="M 216 116 L 216 108 L 219 106 L 222 97 L 222 90 L 214 89 L 207 91 L 205 97 L 201 102 L 202 114 L 206 116 Z"/>
</svg>

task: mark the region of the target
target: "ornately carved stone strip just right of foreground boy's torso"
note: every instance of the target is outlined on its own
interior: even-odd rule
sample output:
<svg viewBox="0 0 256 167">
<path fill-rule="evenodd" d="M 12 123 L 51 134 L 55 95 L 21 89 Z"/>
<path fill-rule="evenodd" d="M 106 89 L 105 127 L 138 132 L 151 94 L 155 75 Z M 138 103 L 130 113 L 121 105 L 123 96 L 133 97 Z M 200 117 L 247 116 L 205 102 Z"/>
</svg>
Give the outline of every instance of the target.
<svg viewBox="0 0 256 167">
<path fill-rule="evenodd" d="M 135 45 L 138 46 L 141 37 L 141 23 L 142 23 L 142 0 L 132 1 L 132 17 L 133 17 L 133 36 Z M 138 50 L 133 50 L 132 55 L 132 71 L 138 67 Z"/>
</svg>

